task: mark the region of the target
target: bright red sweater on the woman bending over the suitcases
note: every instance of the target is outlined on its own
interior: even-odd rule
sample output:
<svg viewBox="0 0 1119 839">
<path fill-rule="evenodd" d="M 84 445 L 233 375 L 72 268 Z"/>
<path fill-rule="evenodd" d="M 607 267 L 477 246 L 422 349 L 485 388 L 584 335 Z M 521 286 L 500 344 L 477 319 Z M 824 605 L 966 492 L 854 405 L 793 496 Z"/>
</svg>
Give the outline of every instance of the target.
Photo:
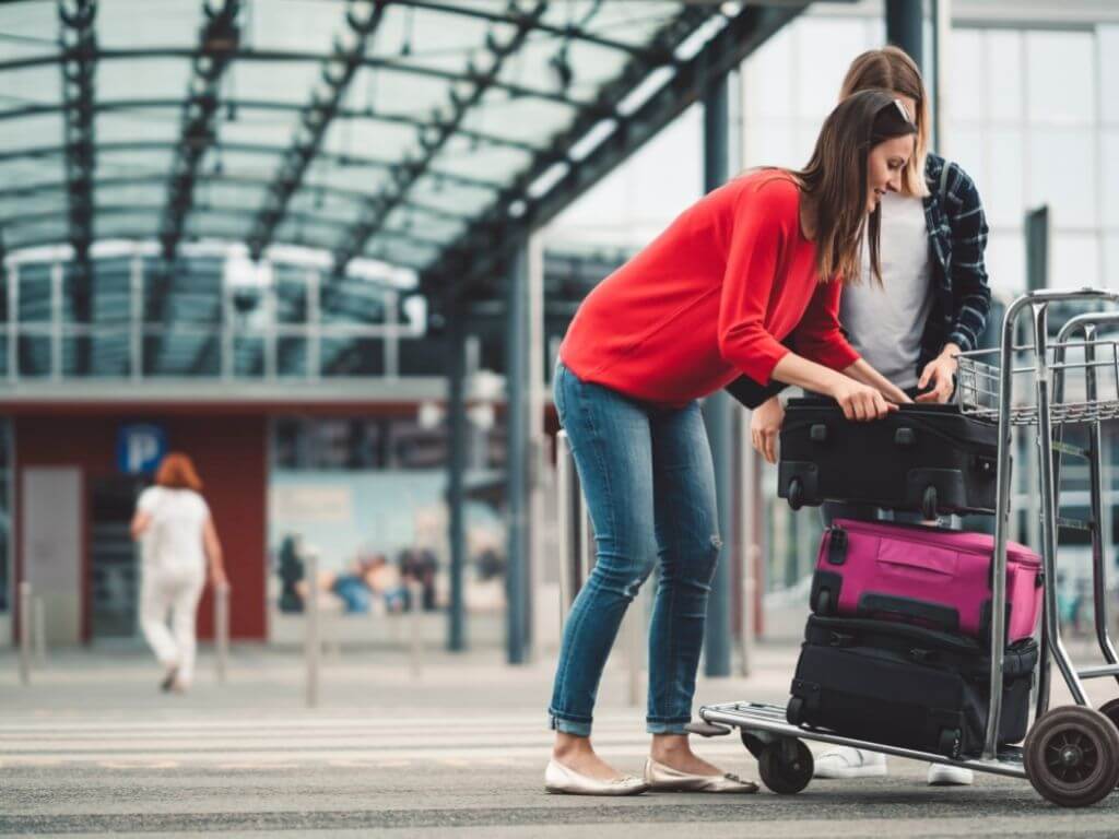
<svg viewBox="0 0 1119 839">
<path fill-rule="evenodd" d="M 817 282 L 788 175 L 752 172 L 685 210 L 586 296 L 560 347 L 584 381 L 684 405 L 745 373 L 769 384 L 792 336 L 833 369 L 858 359 L 839 331 L 840 284 Z"/>
</svg>

